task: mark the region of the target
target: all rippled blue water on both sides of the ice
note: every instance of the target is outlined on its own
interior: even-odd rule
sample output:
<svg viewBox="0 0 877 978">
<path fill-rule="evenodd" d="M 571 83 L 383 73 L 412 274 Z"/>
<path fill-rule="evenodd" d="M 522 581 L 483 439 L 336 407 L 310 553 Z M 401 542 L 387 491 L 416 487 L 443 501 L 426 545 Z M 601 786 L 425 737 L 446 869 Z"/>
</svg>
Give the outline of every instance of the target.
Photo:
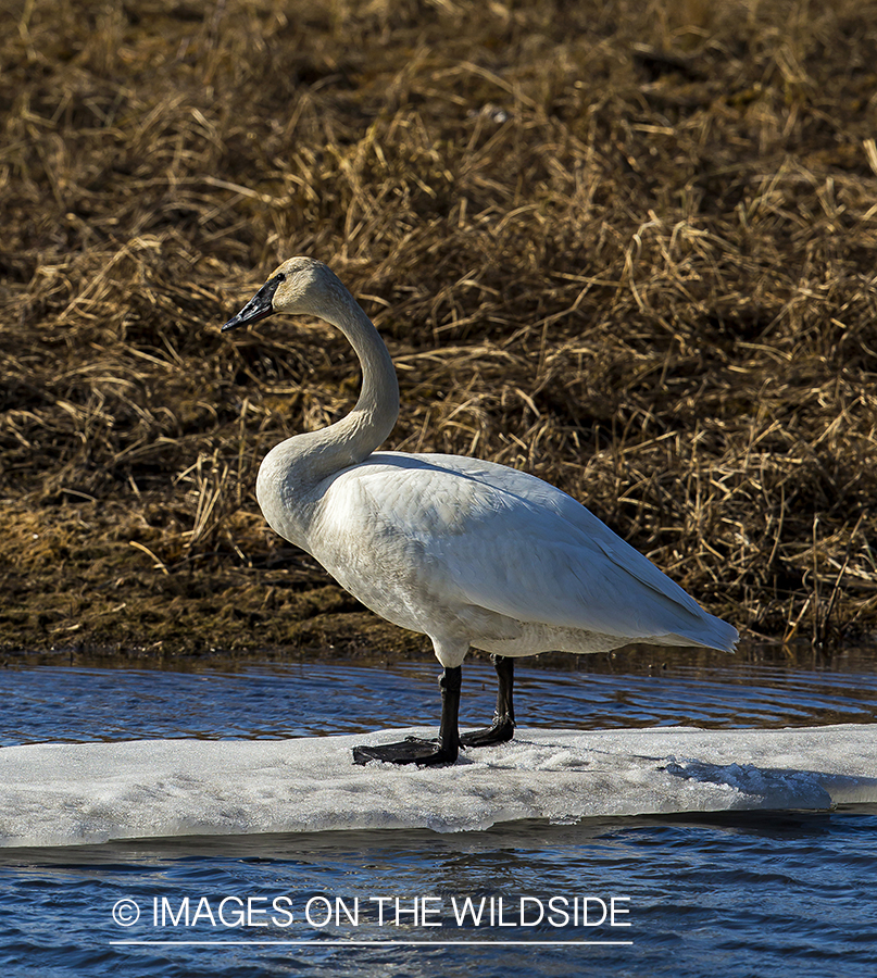
<svg viewBox="0 0 877 978">
<path fill-rule="evenodd" d="M 866 653 L 828 665 L 682 656 L 649 669 L 641 660 L 574 660 L 587 670 L 519 668 L 516 707 L 522 723 L 565 728 L 873 723 L 872 661 Z M 8 668 L 0 742 L 406 726 L 436 719 L 436 675 L 428 663 Z M 489 719 L 494 690 L 489 666 L 466 665 L 465 723 Z M 716 968 L 725 976 L 873 976 L 876 830 L 877 811 L 857 807 L 517 823 L 448 836 L 380 830 L 0 851 L 0 967 L 4 975 L 221 978 L 702 976 Z M 476 908 L 484 901 L 481 926 L 471 917 L 458 925 L 467 896 Z M 587 926 L 573 918 L 585 898 Z M 125 900 L 139 905 L 141 925 L 150 921 L 150 940 L 168 943 L 114 943 L 134 932 L 113 920 L 114 907 L 130 911 Z M 248 900 L 251 927 L 238 924 Z M 337 924 L 321 926 L 326 907 L 338 910 Z M 142 926 L 136 930 L 143 936 Z M 338 943 L 352 940 L 368 943 Z"/>
</svg>

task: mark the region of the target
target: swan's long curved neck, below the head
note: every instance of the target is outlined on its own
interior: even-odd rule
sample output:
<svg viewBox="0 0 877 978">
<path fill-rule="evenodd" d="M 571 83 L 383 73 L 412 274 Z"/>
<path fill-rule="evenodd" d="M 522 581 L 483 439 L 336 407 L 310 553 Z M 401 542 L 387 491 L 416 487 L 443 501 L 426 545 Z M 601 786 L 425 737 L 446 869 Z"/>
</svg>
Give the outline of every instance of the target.
<svg viewBox="0 0 877 978">
<path fill-rule="evenodd" d="M 389 436 L 399 416 L 399 385 L 384 340 L 341 283 L 336 279 L 331 285 L 313 311 L 350 341 L 362 367 L 362 390 L 341 421 L 288 438 L 265 456 L 256 497 L 268 522 L 287 539 L 287 531 L 275 523 L 296 518 L 296 510 L 306 506 L 309 490 L 323 479 L 367 459 Z M 306 521 L 303 511 L 297 516 Z"/>
</svg>

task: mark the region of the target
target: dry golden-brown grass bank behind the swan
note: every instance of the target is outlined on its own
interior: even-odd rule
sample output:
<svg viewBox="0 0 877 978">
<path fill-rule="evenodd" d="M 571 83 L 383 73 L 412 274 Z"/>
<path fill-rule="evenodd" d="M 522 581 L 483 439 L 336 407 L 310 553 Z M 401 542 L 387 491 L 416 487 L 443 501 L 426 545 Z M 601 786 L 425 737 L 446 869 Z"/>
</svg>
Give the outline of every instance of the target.
<svg viewBox="0 0 877 978">
<path fill-rule="evenodd" d="M 356 393 L 329 327 L 218 334 L 302 252 L 392 447 L 557 484 L 751 635 L 873 634 L 877 4 L 0 17 L 0 645 L 389 640 L 252 493 Z"/>
</svg>

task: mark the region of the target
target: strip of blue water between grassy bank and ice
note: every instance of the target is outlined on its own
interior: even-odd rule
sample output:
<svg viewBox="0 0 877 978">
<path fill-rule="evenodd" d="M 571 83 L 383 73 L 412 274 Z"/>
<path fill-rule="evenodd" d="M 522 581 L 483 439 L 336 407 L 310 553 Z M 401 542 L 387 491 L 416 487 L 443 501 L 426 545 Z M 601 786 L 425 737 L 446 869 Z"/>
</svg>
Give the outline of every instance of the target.
<svg viewBox="0 0 877 978">
<path fill-rule="evenodd" d="M 673 662 L 654 670 L 515 668 L 522 726 L 611 729 L 689 725 L 784 727 L 877 720 L 877 652 L 850 662 Z M 587 670 L 586 670 L 587 669 Z M 435 662 L 243 665 L 193 672 L 0 669 L 0 747 L 155 737 L 281 738 L 438 723 Z M 489 722 L 497 680 L 464 666 L 461 724 Z"/>
</svg>

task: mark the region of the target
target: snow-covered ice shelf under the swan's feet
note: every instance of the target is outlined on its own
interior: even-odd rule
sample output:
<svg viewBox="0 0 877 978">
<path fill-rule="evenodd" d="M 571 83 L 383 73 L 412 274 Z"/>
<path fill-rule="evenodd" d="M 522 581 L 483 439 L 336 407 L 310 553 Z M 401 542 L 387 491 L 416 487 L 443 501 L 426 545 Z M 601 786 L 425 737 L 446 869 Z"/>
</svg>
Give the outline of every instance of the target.
<svg viewBox="0 0 877 978">
<path fill-rule="evenodd" d="M 453 767 L 353 764 L 354 744 L 423 729 L 285 741 L 139 740 L 0 750 L 0 844 L 180 835 L 485 829 L 542 818 L 877 802 L 877 724 L 781 730 L 518 729 Z"/>
</svg>

